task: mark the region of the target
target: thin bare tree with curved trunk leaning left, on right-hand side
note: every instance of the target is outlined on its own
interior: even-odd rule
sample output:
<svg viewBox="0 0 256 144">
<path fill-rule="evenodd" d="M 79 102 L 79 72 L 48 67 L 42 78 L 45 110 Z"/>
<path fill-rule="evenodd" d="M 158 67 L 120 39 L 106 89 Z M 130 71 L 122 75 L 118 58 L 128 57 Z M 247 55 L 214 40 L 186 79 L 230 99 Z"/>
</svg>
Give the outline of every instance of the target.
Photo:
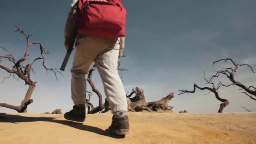
<svg viewBox="0 0 256 144">
<path fill-rule="evenodd" d="M 196 90 L 196 88 L 198 88 L 198 89 L 200 89 L 200 90 L 208 90 L 208 91 L 210 91 L 209 93 L 214 93 L 215 94 L 215 97 L 216 97 L 216 99 L 218 99 L 219 101 L 221 101 L 222 103 L 220 104 L 220 108 L 219 108 L 219 113 L 221 113 L 222 111 L 223 111 L 223 109 L 225 108 L 225 107 L 227 107 L 227 105 L 229 105 L 229 101 L 227 100 L 227 99 L 221 99 L 220 97 L 219 97 L 219 92 L 217 91 L 221 86 L 225 86 L 225 87 L 228 87 L 228 86 L 230 86 L 230 85 L 224 85 L 224 84 L 222 84 L 221 82 L 219 82 L 219 84 L 216 86 L 213 82 L 212 82 L 212 80 L 207 80 L 206 78 L 205 78 L 205 72 L 204 72 L 204 75 L 203 75 L 203 79 L 207 82 L 206 84 L 211 84 L 212 85 L 212 88 L 210 88 L 210 87 L 200 87 L 200 86 L 198 86 L 196 83 L 194 83 L 194 90 L 193 91 L 187 91 L 187 90 L 179 90 L 179 91 L 181 91 L 181 93 L 179 93 L 179 95 L 181 95 L 181 94 L 184 94 L 184 93 L 195 93 L 195 90 Z M 208 94 L 209 94 L 208 93 Z"/>
</svg>

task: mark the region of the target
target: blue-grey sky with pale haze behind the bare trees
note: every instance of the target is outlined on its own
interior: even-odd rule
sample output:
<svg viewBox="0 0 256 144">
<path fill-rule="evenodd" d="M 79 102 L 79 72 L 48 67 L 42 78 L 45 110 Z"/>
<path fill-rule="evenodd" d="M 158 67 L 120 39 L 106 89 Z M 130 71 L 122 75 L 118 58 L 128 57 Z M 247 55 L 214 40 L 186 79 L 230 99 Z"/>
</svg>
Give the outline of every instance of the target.
<svg viewBox="0 0 256 144">
<path fill-rule="evenodd" d="M 5 0 L 0 5 L 0 46 L 14 53 L 16 59 L 24 54 L 25 39 L 15 33 L 15 25 L 32 34 L 32 41 L 40 41 L 51 51 L 46 56 L 48 67 L 59 68 L 65 50 L 64 24 L 71 0 Z M 120 72 L 125 90 L 139 86 L 145 91 L 147 101 L 155 101 L 174 92 L 170 102 L 173 111 L 187 109 L 189 112 L 217 112 L 220 101 L 208 91 L 178 96 L 178 89 L 192 90 L 193 83 L 204 85 L 211 70 L 231 66 L 230 63 L 212 65 L 215 59 L 232 58 L 240 63 L 248 63 L 256 70 L 256 18 L 255 0 L 123 0 L 128 11 L 126 42 L 121 60 L 128 71 Z M 31 49 L 29 60 L 39 56 L 38 47 Z M 0 55 L 3 51 L 0 51 Z M 70 96 L 68 63 L 64 77 L 56 81 L 37 61 L 36 73 L 32 80 L 37 81 L 33 93 L 34 103 L 29 112 L 52 112 L 61 108 L 63 112 L 72 108 Z M 6 64 L 6 63 L 2 63 Z M 0 69 L 0 77 L 8 73 Z M 236 78 L 245 85 L 256 86 L 256 74 L 244 67 L 237 71 Z M 221 78 L 228 83 L 225 78 Z M 93 81 L 103 93 L 99 74 Z M 256 111 L 255 101 L 243 95 L 237 87 L 221 88 L 219 94 L 229 100 L 224 112 L 244 112 L 240 105 Z M 19 105 L 27 86 L 23 81 L 13 79 L 0 84 L 0 102 Z M 88 91 L 91 88 L 88 85 Z M 92 98 L 97 104 L 97 97 Z M 14 112 L 1 108 L 0 112 Z"/>
</svg>

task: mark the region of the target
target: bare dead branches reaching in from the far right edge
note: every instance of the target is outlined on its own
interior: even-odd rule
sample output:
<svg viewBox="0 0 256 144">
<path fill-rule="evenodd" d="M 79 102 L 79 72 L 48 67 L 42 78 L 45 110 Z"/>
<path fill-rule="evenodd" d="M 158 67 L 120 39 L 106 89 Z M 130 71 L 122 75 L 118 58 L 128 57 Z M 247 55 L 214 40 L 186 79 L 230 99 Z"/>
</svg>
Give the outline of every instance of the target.
<svg viewBox="0 0 256 144">
<path fill-rule="evenodd" d="M 220 60 L 214 61 L 213 64 L 216 64 L 216 63 L 218 63 L 220 61 L 225 61 L 225 62 L 226 61 L 231 61 L 232 64 L 234 65 L 234 67 L 233 68 L 231 68 L 231 67 L 223 68 L 223 70 L 216 71 L 216 74 L 213 75 L 211 77 L 211 79 L 213 79 L 214 77 L 219 77 L 219 75 L 225 75 L 232 82 L 232 84 L 230 84 L 230 85 L 237 85 L 237 86 L 239 86 L 240 88 L 245 90 L 242 93 L 245 93 L 251 99 L 256 100 L 256 86 L 249 86 L 249 87 L 247 87 L 247 86 L 243 85 L 242 83 L 240 83 L 239 81 L 235 80 L 235 73 L 236 73 L 237 69 L 239 69 L 242 66 L 247 66 L 247 67 L 249 67 L 251 69 L 251 71 L 253 73 L 255 73 L 253 71 L 253 68 L 249 64 L 239 64 L 239 63 L 237 63 L 237 62 L 235 62 L 235 61 L 233 61 L 232 59 L 229 59 L 229 58 L 227 58 L 227 59 L 220 59 Z"/>
</svg>

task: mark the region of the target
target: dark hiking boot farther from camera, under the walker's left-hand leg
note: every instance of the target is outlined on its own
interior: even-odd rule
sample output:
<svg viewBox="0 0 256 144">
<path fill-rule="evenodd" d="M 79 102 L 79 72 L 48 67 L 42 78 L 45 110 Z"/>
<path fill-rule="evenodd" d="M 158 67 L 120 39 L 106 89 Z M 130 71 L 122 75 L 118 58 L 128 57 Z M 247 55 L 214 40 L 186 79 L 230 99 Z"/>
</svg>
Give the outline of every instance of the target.
<svg viewBox="0 0 256 144">
<path fill-rule="evenodd" d="M 64 118 L 67 120 L 84 122 L 85 121 L 85 106 L 77 107 L 73 106 L 73 109 L 64 114 Z"/>
</svg>

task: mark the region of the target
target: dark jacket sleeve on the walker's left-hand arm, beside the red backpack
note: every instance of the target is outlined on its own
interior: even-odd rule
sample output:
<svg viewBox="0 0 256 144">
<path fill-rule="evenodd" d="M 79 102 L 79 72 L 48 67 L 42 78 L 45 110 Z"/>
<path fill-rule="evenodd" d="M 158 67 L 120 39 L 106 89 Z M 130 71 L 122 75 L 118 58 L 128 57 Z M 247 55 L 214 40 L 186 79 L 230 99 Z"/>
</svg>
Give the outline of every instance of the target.
<svg viewBox="0 0 256 144">
<path fill-rule="evenodd" d="M 66 24 L 65 24 L 65 30 L 64 30 L 64 37 L 65 37 L 65 45 L 73 46 L 71 45 L 72 41 L 75 40 L 75 37 L 77 35 L 77 21 L 76 21 L 76 15 L 72 18 L 71 13 L 73 10 L 73 6 L 77 3 L 77 0 L 73 0 L 71 4 L 71 8 L 69 9 L 69 13 L 67 16 Z"/>
</svg>

